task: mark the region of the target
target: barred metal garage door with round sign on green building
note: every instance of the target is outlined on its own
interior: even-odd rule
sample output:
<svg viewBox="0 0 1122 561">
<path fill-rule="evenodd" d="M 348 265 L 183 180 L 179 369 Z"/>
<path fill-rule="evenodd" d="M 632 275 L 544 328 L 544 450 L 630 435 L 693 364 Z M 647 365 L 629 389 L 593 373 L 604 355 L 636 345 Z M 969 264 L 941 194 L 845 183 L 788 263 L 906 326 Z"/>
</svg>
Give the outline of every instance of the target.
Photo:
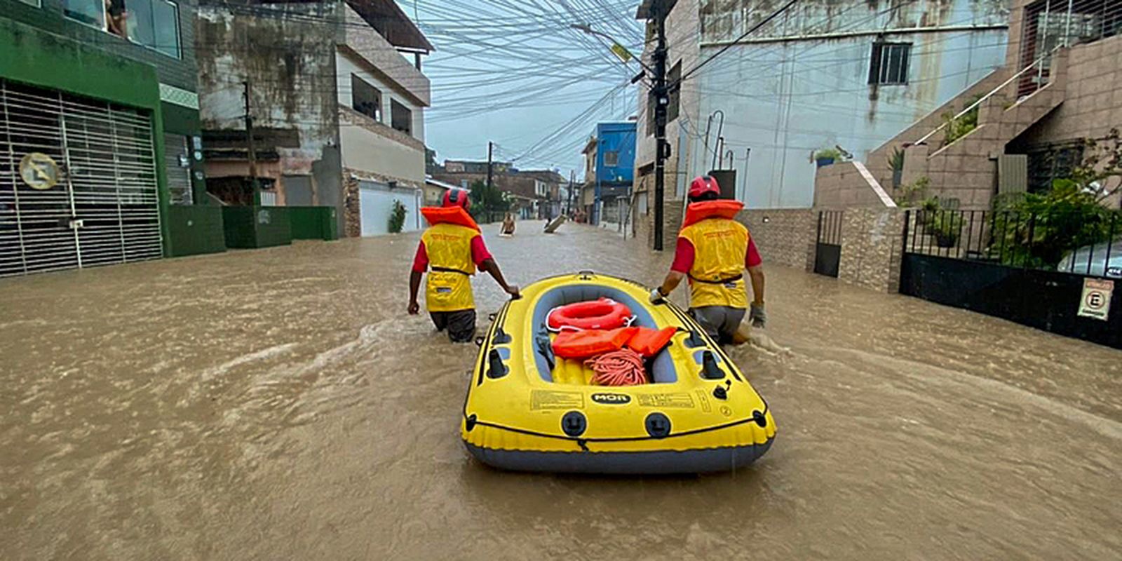
<svg viewBox="0 0 1122 561">
<path fill-rule="evenodd" d="M 162 256 L 145 113 L 0 80 L 0 276 Z"/>
</svg>

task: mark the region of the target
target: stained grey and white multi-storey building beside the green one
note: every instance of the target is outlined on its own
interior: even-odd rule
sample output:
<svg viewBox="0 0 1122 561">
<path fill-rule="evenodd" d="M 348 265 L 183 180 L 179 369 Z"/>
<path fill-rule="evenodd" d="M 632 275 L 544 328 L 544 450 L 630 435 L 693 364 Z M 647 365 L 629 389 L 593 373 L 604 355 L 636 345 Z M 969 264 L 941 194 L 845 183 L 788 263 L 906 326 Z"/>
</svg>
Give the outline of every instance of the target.
<svg viewBox="0 0 1122 561">
<path fill-rule="evenodd" d="M 215 196 L 334 206 L 342 236 L 385 233 L 401 203 L 405 230 L 421 228 L 431 102 L 421 55 L 433 46 L 393 0 L 205 0 L 197 47 Z M 247 84 L 256 195 L 242 118 Z"/>
</svg>

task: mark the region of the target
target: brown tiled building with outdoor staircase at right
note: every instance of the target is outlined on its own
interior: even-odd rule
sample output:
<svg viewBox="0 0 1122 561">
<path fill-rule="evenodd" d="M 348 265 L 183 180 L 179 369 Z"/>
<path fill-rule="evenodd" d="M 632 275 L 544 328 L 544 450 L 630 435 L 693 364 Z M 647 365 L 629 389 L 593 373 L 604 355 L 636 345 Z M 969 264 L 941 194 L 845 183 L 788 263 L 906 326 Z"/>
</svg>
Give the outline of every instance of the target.
<svg viewBox="0 0 1122 561">
<path fill-rule="evenodd" d="M 899 195 L 921 178 L 927 195 L 966 210 L 988 210 L 997 194 L 1050 188 L 1082 164 L 1085 140 L 1122 126 L 1120 31 L 1122 0 L 1017 0 L 1004 64 L 864 162 L 820 169 L 816 205 L 876 206 L 874 191 Z M 972 105 L 962 122 L 973 126 L 948 135 L 942 114 Z M 895 171 L 892 154 L 901 155 Z M 1107 202 L 1116 206 L 1119 197 Z"/>
</svg>

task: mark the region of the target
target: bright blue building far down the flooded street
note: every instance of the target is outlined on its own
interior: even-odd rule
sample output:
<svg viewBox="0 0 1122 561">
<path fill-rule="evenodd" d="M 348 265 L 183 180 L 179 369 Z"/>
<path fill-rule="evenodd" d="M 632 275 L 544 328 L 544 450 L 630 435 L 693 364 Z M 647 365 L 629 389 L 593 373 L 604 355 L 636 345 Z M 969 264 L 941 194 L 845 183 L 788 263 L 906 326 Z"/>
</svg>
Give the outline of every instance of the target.
<svg viewBox="0 0 1122 561">
<path fill-rule="evenodd" d="M 589 222 L 623 223 L 635 180 L 635 121 L 597 123 L 583 153 L 582 205 Z"/>
</svg>

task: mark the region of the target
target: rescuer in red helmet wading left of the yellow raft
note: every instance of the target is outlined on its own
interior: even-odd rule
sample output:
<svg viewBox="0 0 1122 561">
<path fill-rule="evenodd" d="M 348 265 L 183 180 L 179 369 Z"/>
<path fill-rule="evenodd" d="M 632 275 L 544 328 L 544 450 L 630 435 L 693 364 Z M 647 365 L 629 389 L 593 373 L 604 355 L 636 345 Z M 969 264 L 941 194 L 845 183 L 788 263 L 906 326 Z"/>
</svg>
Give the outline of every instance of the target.
<svg viewBox="0 0 1122 561">
<path fill-rule="evenodd" d="M 471 275 L 477 267 L 489 273 L 512 297 L 518 297 L 518 287 L 506 284 L 498 264 L 487 251 L 479 227 L 467 213 L 469 206 L 467 191 L 449 190 L 444 193 L 443 208 L 431 209 L 438 212 L 421 210 L 432 226 L 421 234 L 410 273 L 410 315 L 416 315 L 421 310 L 417 291 L 421 275 L 427 270 L 425 306 L 436 331 L 447 329 L 452 342 L 468 342 L 476 334 Z M 453 208 L 463 212 L 440 212 Z"/>
</svg>

